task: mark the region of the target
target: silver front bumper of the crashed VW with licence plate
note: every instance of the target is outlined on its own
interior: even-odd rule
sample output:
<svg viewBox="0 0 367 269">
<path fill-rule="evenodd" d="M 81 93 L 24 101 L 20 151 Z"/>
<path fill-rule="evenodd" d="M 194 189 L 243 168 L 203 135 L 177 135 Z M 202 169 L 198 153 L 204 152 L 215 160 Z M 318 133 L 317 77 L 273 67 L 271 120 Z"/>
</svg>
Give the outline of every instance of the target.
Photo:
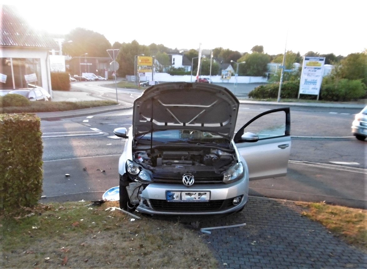
<svg viewBox="0 0 367 269">
<path fill-rule="evenodd" d="M 138 212 L 164 215 L 213 215 L 241 210 L 248 198 L 248 181 L 232 184 L 149 184 L 139 195 Z"/>
</svg>

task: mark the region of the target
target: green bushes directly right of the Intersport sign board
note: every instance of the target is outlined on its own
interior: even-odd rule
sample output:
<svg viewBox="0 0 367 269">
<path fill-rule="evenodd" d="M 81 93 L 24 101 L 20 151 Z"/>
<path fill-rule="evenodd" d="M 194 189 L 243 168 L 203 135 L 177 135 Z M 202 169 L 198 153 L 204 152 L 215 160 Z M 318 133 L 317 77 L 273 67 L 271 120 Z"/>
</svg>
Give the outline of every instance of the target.
<svg viewBox="0 0 367 269">
<path fill-rule="evenodd" d="M 328 101 L 352 101 L 366 97 L 367 87 L 361 80 L 334 80 L 324 78 L 320 90 L 320 99 Z"/>
</svg>

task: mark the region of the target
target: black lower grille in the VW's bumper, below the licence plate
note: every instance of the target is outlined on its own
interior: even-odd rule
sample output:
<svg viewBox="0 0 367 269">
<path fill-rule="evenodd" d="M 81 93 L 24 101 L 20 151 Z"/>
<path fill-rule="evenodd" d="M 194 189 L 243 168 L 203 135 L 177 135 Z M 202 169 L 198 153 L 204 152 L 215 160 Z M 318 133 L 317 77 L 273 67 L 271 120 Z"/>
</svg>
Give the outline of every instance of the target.
<svg viewBox="0 0 367 269">
<path fill-rule="evenodd" d="M 161 212 L 209 212 L 220 211 L 233 207 L 232 199 L 212 200 L 209 202 L 167 202 L 166 200 L 150 199 L 154 210 Z"/>
</svg>

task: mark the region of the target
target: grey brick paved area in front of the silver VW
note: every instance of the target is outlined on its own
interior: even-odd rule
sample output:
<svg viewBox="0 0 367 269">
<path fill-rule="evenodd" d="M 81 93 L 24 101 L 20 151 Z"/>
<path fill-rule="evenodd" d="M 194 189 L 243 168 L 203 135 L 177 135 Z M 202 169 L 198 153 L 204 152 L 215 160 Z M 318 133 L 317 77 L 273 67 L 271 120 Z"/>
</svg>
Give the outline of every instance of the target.
<svg viewBox="0 0 367 269">
<path fill-rule="evenodd" d="M 367 268 L 366 254 L 301 212 L 291 201 L 251 196 L 242 212 L 200 223 L 200 228 L 246 226 L 200 234 L 220 268 Z"/>
</svg>

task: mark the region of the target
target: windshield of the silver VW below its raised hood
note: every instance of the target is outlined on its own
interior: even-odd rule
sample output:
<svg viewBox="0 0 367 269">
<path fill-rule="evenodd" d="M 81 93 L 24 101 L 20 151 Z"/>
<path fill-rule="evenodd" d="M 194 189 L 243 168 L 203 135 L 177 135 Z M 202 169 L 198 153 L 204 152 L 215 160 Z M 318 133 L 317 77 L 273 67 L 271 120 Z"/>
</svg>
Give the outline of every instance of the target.
<svg viewBox="0 0 367 269">
<path fill-rule="evenodd" d="M 140 141 L 153 141 L 167 143 L 226 143 L 228 140 L 218 134 L 210 132 L 202 132 L 199 130 L 164 130 L 152 133 L 146 133 L 137 136 L 136 139 Z"/>
</svg>

